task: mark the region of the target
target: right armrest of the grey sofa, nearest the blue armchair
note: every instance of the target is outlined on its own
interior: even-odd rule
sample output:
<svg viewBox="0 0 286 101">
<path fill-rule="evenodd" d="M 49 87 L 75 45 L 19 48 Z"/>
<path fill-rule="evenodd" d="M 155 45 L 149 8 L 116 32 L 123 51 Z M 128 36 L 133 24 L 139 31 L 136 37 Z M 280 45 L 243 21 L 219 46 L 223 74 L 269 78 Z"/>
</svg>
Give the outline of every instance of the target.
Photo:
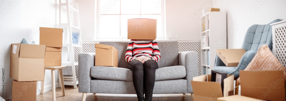
<svg viewBox="0 0 286 101">
<path fill-rule="evenodd" d="M 187 80 L 187 93 L 193 93 L 191 81 L 198 76 L 198 53 L 187 51 L 179 53 L 179 65 L 185 66 Z"/>
</svg>

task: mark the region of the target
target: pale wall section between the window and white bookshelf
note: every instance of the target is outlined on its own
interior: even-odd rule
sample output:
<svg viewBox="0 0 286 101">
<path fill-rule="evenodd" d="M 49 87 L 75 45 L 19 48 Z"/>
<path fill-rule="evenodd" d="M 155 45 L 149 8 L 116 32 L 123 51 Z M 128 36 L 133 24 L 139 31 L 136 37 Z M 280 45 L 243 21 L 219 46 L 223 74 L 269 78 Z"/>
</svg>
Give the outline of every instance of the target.
<svg viewBox="0 0 286 101">
<path fill-rule="evenodd" d="M 166 0 L 166 34 L 174 40 L 200 39 L 200 9 L 213 0 Z"/>
</svg>

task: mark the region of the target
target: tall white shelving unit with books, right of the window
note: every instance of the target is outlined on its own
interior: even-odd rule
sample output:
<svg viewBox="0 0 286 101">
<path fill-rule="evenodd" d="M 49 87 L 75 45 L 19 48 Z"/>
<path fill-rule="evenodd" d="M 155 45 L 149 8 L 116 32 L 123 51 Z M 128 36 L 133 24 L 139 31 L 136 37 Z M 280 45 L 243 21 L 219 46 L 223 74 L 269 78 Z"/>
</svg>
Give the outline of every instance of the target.
<svg viewBox="0 0 286 101">
<path fill-rule="evenodd" d="M 200 18 L 200 26 L 201 71 L 205 69 L 206 74 L 210 74 L 211 70 L 215 68 L 217 55 L 215 51 L 227 49 L 226 13 L 221 11 L 208 12 Z M 203 75 L 204 72 L 201 74 Z"/>
</svg>

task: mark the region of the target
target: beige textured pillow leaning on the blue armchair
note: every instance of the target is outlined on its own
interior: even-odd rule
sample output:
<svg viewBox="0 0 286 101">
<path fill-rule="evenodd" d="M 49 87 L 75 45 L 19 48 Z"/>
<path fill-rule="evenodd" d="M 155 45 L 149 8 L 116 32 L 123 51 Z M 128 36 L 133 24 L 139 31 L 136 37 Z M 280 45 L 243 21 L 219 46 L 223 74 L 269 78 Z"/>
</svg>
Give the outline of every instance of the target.
<svg viewBox="0 0 286 101">
<path fill-rule="evenodd" d="M 279 62 L 279 60 L 272 54 L 269 47 L 262 45 L 251 62 L 244 70 L 248 71 L 267 71 L 267 70 L 283 70 L 284 78 L 286 77 L 286 68 Z M 240 84 L 240 78 L 237 79 L 237 84 Z M 286 84 L 286 78 L 284 79 Z"/>
</svg>

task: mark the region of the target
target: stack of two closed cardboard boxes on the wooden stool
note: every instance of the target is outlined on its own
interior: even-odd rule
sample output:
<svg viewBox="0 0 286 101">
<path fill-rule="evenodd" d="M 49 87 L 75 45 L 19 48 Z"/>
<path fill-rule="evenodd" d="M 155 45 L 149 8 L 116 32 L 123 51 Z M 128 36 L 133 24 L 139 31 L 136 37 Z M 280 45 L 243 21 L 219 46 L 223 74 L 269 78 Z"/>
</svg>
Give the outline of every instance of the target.
<svg viewBox="0 0 286 101">
<path fill-rule="evenodd" d="M 47 45 L 45 66 L 61 66 L 63 29 L 40 27 L 40 45 Z"/>
</svg>

